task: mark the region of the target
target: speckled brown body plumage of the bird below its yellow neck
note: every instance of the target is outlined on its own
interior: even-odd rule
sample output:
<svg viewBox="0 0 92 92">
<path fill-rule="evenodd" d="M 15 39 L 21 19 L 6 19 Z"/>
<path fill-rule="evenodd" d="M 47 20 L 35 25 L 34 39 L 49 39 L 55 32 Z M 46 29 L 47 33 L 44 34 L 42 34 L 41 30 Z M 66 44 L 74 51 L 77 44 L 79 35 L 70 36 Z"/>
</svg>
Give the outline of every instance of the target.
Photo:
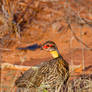
<svg viewBox="0 0 92 92">
<path fill-rule="evenodd" d="M 20 76 L 15 85 L 26 88 L 43 88 L 55 92 L 69 78 L 69 65 L 62 56 L 44 62 L 36 69 L 30 68 Z"/>
</svg>

